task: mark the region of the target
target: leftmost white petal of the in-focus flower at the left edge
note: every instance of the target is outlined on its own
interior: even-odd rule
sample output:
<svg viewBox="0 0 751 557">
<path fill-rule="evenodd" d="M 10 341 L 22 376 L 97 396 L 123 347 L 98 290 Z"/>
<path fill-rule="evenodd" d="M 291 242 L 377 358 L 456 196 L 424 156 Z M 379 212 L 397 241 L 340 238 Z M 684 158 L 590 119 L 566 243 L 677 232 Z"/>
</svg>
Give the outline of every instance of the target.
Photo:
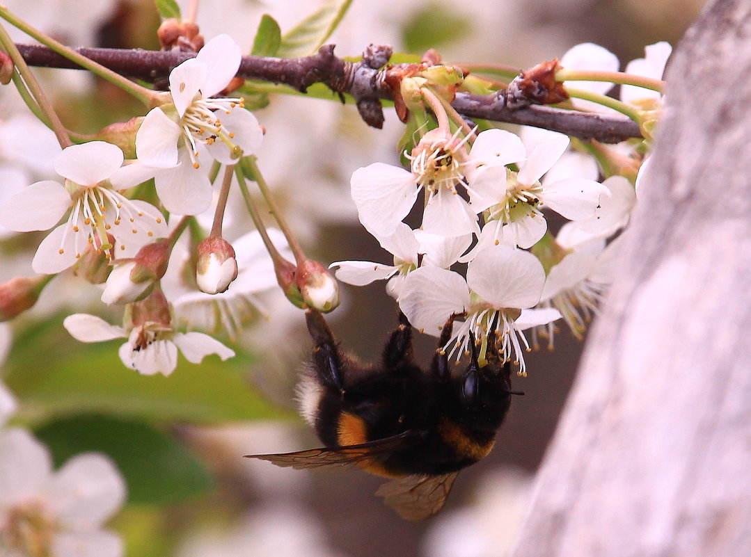
<svg viewBox="0 0 751 557">
<path fill-rule="evenodd" d="M 49 230 L 71 207 L 71 196 L 58 182 L 35 182 L 11 196 L 0 209 L 0 224 L 16 232 Z"/>
</svg>

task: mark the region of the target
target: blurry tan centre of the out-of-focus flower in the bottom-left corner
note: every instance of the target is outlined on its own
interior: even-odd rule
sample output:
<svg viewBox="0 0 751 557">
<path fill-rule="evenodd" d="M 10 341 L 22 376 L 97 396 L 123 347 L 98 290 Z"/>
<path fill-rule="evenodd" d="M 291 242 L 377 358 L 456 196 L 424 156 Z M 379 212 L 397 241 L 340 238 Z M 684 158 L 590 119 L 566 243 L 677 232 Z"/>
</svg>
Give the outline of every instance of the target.
<svg viewBox="0 0 751 557">
<path fill-rule="evenodd" d="M 0 526 L 0 552 L 4 546 L 11 553 L 29 557 L 49 557 L 57 522 L 40 501 L 12 507 Z"/>
</svg>

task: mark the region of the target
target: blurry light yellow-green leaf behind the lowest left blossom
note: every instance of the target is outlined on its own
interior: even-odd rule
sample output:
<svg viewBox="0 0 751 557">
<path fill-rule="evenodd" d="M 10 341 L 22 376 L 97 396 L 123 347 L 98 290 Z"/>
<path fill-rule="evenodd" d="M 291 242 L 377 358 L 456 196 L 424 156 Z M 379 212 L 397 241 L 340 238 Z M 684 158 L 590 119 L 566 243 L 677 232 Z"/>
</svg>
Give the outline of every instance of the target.
<svg viewBox="0 0 751 557">
<path fill-rule="evenodd" d="M 249 383 L 254 360 L 238 353 L 200 365 L 179 358 L 169 377 L 139 375 L 122 365 L 122 341 L 84 344 L 71 339 L 62 318 L 17 336 L 5 381 L 20 399 L 22 418 L 44 420 L 81 411 L 147 420 L 217 423 L 285 417 Z"/>
</svg>

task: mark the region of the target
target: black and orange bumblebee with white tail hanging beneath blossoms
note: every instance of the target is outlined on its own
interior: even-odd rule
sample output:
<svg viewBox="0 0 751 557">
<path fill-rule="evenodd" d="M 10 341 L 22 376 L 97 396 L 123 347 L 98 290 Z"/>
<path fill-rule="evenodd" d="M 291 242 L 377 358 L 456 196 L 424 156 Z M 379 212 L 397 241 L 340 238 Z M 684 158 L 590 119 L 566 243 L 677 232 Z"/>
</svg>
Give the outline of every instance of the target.
<svg viewBox="0 0 751 557">
<path fill-rule="evenodd" d="M 403 314 L 379 366 L 340 351 L 319 312 L 309 309 L 306 322 L 315 348 L 298 386 L 300 406 L 324 447 L 247 456 L 292 468 L 355 466 L 394 478 L 376 495 L 403 518 L 437 513 L 458 472 L 490 452 L 511 395 L 523 394 L 511 390 L 495 334 L 487 364 L 480 366 L 472 342 L 469 364 L 458 372 L 440 348 L 451 339 L 452 316 L 426 371 L 413 360 L 412 326 Z"/>
</svg>

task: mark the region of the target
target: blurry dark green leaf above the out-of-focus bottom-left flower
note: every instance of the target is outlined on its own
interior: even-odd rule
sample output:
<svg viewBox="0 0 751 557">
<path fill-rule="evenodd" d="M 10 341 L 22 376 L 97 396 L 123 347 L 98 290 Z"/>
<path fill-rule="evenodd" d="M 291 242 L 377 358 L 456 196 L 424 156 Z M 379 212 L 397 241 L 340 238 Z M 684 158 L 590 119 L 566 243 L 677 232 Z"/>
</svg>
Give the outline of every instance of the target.
<svg viewBox="0 0 751 557">
<path fill-rule="evenodd" d="M 80 415 L 47 423 L 37 437 L 50 447 L 56 466 L 79 453 L 110 456 L 128 484 L 128 502 L 175 504 L 203 495 L 213 476 L 172 436 L 146 423 Z"/>
</svg>

